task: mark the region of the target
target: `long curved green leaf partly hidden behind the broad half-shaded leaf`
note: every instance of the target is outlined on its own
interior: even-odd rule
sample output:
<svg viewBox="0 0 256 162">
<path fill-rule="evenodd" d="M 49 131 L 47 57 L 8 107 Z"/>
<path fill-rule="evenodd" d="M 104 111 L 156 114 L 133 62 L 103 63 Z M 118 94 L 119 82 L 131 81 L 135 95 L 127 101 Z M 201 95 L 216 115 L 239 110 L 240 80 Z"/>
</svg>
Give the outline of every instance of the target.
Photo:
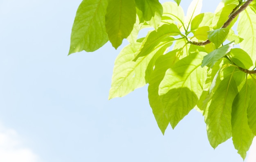
<svg viewBox="0 0 256 162">
<path fill-rule="evenodd" d="M 170 123 L 164 112 L 164 105 L 161 103 L 160 96 L 158 94 L 159 84 L 164 78 L 164 74 L 168 68 L 171 68 L 175 62 L 178 61 L 176 52 L 171 51 L 165 55 L 160 56 L 155 62 L 155 69 L 150 75 L 148 81 L 148 100 L 150 107 L 153 110 L 153 114 L 157 121 L 157 125 L 164 134 L 165 129 Z"/>
</svg>

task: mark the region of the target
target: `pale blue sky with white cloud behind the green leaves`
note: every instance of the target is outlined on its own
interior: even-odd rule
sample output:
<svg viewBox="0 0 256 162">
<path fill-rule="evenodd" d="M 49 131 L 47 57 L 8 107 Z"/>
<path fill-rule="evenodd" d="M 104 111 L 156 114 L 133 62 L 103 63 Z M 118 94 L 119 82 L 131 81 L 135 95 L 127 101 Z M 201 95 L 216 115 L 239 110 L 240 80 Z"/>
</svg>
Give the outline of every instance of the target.
<svg viewBox="0 0 256 162">
<path fill-rule="evenodd" d="M 1 162 L 243 162 L 231 139 L 213 150 L 194 110 L 163 136 L 147 86 L 108 101 L 124 45 L 67 56 L 80 2 L 0 0 Z"/>
</svg>

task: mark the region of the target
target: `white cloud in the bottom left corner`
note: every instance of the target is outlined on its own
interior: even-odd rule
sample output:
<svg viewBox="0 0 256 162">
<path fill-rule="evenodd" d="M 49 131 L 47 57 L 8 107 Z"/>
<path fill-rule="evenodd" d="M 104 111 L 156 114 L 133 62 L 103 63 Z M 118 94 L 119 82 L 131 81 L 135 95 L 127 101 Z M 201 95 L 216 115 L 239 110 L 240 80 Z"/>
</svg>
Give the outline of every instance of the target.
<svg viewBox="0 0 256 162">
<path fill-rule="evenodd" d="M 39 162 L 39 158 L 23 146 L 15 130 L 0 124 L 0 162 Z"/>
</svg>

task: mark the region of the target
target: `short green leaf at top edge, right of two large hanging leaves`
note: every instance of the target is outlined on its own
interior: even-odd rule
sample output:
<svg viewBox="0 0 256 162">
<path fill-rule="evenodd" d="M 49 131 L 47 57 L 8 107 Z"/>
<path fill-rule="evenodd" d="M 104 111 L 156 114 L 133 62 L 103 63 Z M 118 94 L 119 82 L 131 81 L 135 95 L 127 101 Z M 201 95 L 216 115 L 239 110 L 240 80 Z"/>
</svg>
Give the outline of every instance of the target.
<svg viewBox="0 0 256 162">
<path fill-rule="evenodd" d="M 163 14 L 163 8 L 158 0 L 135 0 L 136 7 L 143 13 L 144 20 L 157 29 Z"/>
</svg>

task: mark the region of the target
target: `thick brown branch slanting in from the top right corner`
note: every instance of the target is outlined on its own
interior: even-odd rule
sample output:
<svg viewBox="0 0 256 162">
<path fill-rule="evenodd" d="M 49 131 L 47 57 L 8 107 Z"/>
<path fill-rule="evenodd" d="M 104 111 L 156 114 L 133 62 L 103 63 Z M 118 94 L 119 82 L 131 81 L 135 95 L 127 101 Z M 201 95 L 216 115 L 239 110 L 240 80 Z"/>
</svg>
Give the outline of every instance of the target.
<svg viewBox="0 0 256 162">
<path fill-rule="evenodd" d="M 229 24 L 234 20 L 234 18 L 236 18 L 237 15 L 239 15 L 239 13 L 241 13 L 242 11 L 244 11 L 246 9 L 246 7 L 249 6 L 249 4 L 252 2 L 253 0 L 247 0 L 238 10 L 237 7 L 230 13 L 229 15 L 229 19 L 223 24 L 223 26 L 221 28 L 226 28 L 227 26 L 229 26 Z M 239 4 L 238 4 L 239 6 Z M 235 11 L 236 10 L 236 11 Z M 211 43 L 211 41 L 209 41 L 209 39 L 207 39 L 206 41 L 204 42 L 195 42 L 195 41 L 192 41 L 188 38 L 188 41 L 190 44 L 193 44 L 193 45 L 197 45 L 197 46 L 204 46 L 206 44 L 209 44 Z M 256 74 L 255 73 L 252 73 L 252 74 Z"/>
</svg>

